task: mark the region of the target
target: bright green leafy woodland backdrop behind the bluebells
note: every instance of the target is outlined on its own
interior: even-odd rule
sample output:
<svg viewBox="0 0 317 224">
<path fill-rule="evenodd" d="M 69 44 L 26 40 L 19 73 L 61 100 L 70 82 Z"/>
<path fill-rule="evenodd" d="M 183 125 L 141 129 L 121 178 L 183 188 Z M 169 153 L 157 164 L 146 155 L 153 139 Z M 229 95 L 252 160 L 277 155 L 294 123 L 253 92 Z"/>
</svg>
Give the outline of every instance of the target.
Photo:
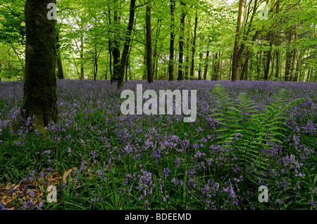
<svg viewBox="0 0 317 224">
<path fill-rule="evenodd" d="M 0 4 L 3 80 L 25 72 L 24 4 Z M 235 80 L 316 81 L 316 15 L 313 0 L 60 0 L 56 76 L 232 79 L 236 60 Z"/>
</svg>

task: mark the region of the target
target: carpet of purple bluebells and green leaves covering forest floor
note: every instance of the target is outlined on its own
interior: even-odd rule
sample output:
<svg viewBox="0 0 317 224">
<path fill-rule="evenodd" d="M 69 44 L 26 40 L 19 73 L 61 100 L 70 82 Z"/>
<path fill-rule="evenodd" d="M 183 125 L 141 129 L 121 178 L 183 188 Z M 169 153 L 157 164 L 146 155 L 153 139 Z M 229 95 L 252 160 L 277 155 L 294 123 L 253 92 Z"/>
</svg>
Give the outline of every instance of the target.
<svg viewBox="0 0 317 224">
<path fill-rule="evenodd" d="M 157 93 L 197 90 L 197 120 L 122 115 L 120 92 L 137 84 Z M 243 176 L 233 147 L 218 143 L 215 84 L 230 100 L 247 93 L 256 111 L 281 88 L 290 101 L 305 98 L 287 114 L 286 138 L 271 145 L 267 171 L 256 178 Z M 32 118 L 20 118 L 23 83 L 0 83 L 0 209 L 317 209 L 316 83 L 128 81 L 123 89 L 58 80 L 59 119 L 43 136 Z M 50 185 L 56 202 L 48 202 Z M 261 185 L 268 202 L 259 202 Z"/>
</svg>

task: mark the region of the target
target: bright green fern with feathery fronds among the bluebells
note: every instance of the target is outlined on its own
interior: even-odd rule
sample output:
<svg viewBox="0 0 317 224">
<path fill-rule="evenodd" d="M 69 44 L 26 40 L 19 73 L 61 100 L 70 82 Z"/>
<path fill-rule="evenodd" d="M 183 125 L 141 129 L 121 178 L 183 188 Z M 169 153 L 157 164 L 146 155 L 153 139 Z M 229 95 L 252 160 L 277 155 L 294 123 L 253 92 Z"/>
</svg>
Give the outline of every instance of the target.
<svg viewBox="0 0 317 224">
<path fill-rule="evenodd" d="M 266 105 L 266 111 L 260 112 L 246 93 L 240 93 L 236 100 L 232 100 L 225 88 L 217 84 L 212 94 L 216 98 L 216 109 L 212 115 L 222 125 L 216 130 L 219 133 L 218 144 L 233 147 L 237 163 L 243 166 L 244 177 L 246 167 L 256 176 L 259 171 L 266 173 L 271 159 L 261 149 L 271 148 L 268 142 L 282 143 L 281 139 L 285 138 L 283 133 L 287 131 L 285 120 L 289 119 L 287 111 L 304 98 L 287 103 L 289 96 L 282 89 L 273 103 Z M 237 136 L 240 138 L 237 139 Z M 235 142 L 232 141 L 234 139 Z"/>
</svg>

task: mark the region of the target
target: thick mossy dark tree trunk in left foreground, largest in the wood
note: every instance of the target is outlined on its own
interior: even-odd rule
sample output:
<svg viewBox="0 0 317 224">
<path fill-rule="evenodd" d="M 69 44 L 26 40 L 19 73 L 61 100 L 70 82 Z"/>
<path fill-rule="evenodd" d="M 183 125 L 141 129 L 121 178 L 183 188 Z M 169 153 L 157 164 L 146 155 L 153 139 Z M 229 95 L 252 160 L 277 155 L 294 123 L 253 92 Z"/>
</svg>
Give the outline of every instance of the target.
<svg viewBox="0 0 317 224">
<path fill-rule="evenodd" d="M 48 20 L 47 5 L 56 0 L 25 2 L 25 78 L 23 117 L 36 116 L 39 131 L 58 119 L 56 96 L 56 20 Z"/>
</svg>

